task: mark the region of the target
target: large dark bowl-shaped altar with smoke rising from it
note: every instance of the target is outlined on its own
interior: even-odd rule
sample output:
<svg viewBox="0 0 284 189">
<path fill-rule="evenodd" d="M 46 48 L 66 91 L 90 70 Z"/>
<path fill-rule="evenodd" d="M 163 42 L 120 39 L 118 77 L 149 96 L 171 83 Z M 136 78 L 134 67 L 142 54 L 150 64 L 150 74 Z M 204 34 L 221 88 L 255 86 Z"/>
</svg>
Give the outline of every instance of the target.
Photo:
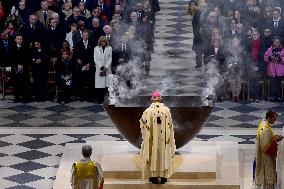
<svg viewBox="0 0 284 189">
<path fill-rule="evenodd" d="M 195 96 L 165 96 L 163 102 L 171 110 L 177 148 L 199 133 L 213 109 L 212 106 L 202 106 L 200 97 Z M 104 107 L 121 135 L 140 148 L 142 136 L 139 119 L 150 104 L 149 96 L 138 96 L 119 105 Z"/>
</svg>

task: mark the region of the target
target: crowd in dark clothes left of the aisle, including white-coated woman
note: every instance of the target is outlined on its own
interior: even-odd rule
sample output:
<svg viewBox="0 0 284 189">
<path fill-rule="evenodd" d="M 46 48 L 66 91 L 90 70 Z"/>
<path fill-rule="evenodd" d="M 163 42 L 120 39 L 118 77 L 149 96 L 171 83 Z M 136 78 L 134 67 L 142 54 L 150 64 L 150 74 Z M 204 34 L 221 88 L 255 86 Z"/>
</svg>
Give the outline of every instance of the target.
<svg viewBox="0 0 284 189">
<path fill-rule="evenodd" d="M 133 59 L 148 75 L 159 10 L 158 0 L 0 0 L 0 67 L 14 101 L 45 101 L 53 78 L 59 103 L 74 91 L 102 102 L 108 75 Z"/>
</svg>

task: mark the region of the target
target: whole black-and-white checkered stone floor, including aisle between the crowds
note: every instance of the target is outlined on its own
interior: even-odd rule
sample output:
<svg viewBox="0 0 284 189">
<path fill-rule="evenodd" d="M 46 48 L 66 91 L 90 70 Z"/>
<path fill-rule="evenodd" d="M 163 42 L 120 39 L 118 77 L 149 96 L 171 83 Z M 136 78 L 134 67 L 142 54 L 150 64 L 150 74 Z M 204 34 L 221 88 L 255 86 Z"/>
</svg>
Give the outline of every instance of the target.
<svg viewBox="0 0 284 189">
<path fill-rule="evenodd" d="M 191 23 L 185 15 L 186 1 L 161 1 L 157 14 L 155 53 L 149 94 L 199 95 L 201 70 L 195 69 L 191 50 Z M 170 90 L 169 88 L 173 89 Z M 10 98 L 11 99 L 11 98 Z M 50 189 L 66 143 L 123 140 L 100 104 L 54 102 L 20 104 L 0 101 L 0 188 Z M 251 185 L 251 162 L 258 122 L 267 109 L 279 112 L 275 132 L 282 132 L 282 103 L 215 104 L 199 141 L 229 140 L 240 145 L 242 188 Z"/>
</svg>

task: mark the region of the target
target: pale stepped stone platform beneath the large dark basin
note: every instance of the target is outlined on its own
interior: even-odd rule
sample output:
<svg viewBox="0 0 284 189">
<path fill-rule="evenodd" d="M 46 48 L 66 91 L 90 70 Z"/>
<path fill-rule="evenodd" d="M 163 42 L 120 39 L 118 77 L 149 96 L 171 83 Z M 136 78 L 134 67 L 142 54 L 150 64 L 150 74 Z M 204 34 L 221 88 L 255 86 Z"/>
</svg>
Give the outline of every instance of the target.
<svg viewBox="0 0 284 189">
<path fill-rule="evenodd" d="M 234 142 L 191 142 L 177 151 L 175 174 L 164 185 L 141 179 L 139 150 L 128 142 L 90 141 L 105 176 L 105 189 L 239 188 L 238 145 Z M 53 189 L 69 189 L 72 163 L 81 159 L 82 144 L 64 150 Z"/>
</svg>

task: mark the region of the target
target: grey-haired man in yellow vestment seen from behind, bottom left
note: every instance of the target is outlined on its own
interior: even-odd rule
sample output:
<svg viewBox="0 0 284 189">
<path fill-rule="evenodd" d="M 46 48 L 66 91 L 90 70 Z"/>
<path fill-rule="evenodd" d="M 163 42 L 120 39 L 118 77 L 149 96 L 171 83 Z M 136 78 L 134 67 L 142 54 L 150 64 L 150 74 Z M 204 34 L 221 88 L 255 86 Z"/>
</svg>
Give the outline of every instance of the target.
<svg viewBox="0 0 284 189">
<path fill-rule="evenodd" d="M 84 145 L 82 155 L 83 159 L 72 166 L 72 189 L 102 189 L 104 176 L 101 165 L 91 160 L 92 146 Z"/>
</svg>

